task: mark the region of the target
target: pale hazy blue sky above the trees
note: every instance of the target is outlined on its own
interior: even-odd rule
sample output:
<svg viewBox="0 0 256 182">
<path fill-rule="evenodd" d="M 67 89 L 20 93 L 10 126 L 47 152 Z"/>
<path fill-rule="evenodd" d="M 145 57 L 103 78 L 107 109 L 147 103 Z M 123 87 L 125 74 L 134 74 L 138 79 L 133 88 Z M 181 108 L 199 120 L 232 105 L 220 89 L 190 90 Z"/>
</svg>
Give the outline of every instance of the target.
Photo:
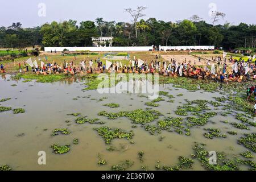
<svg viewBox="0 0 256 182">
<path fill-rule="evenodd" d="M 46 16 L 38 16 L 39 3 L 45 3 Z M 256 23 L 255 0 L 0 0 L 0 26 L 10 26 L 13 22 L 21 22 L 23 27 L 40 26 L 46 22 L 57 22 L 73 19 L 95 20 L 102 17 L 104 20 L 116 22 L 130 22 L 125 8 L 146 6 L 144 19 L 154 17 L 158 20 L 172 21 L 188 19 L 194 14 L 210 23 L 210 3 L 217 5 L 217 11 L 226 13 L 224 20 L 232 24 L 245 22 Z"/>
</svg>

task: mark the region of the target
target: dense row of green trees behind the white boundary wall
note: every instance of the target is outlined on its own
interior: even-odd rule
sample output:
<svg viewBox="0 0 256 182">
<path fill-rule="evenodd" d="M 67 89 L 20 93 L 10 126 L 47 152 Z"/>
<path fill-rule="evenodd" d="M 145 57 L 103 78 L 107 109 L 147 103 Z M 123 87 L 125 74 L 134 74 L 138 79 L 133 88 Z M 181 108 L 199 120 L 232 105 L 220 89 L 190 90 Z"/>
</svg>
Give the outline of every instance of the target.
<svg viewBox="0 0 256 182">
<path fill-rule="evenodd" d="M 164 22 L 126 9 L 134 15 L 134 22 L 107 22 L 66 20 L 45 23 L 42 26 L 22 28 L 21 23 L 0 27 L 0 47 L 24 49 L 42 47 L 92 46 L 92 37 L 113 36 L 112 46 L 216 46 L 224 49 L 255 48 L 256 25 L 240 23 L 224 25 L 206 23 L 197 15 L 176 22 Z M 141 12 L 139 12 L 141 13 Z M 135 16 L 138 15 L 138 16 Z M 218 17 L 217 17 L 218 18 Z M 213 22 L 216 23 L 216 22 Z M 108 45 L 107 45 L 108 46 Z"/>
</svg>

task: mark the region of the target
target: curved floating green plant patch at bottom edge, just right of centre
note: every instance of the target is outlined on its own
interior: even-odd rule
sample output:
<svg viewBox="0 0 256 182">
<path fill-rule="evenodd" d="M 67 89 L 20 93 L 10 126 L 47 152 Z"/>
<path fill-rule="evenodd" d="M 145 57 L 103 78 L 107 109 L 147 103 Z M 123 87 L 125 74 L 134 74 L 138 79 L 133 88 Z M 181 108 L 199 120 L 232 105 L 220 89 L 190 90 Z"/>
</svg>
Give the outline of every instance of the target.
<svg viewBox="0 0 256 182">
<path fill-rule="evenodd" d="M 174 167 L 163 166 L 163 169 L 166 171 L 180 171 L 181 169 L 193 168 L 192 167 L 193 163 L 194 161 L 192 159 L 185 158 L 184 156 L 179 156 L 179 163 L 177 164 L 177 166 L 174 166 Z"/>
</svg>

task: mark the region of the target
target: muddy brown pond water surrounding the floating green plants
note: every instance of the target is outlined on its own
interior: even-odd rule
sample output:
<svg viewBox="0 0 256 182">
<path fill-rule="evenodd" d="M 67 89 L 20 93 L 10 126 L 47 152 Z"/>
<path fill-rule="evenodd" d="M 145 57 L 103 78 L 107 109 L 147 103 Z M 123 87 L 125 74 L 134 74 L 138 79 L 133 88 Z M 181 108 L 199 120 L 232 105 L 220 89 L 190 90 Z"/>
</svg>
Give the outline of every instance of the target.
<svg viewBox="0 0 256 182">
<path fill-rule="evenodd" d="M 11 86 L 16 84 L 17 86 Z M 179 135 L 162 131 L 161 134 L 151 135 L 143 127 L 138 125 L 132 129 L 130 119 L 117 118 L 110 120 L 105 117 L 98 117 L 97 113 L 102 110 L 108 112 L 131 111 L 135 109 L 146 109 L 144 103 L 149 102 L 147 98 L 139 97 L 138 94 L 99 94 L 96 90 L 81 91 L 85 86 L 83 82 L 67 81 L 53 83 L 38 83 L 35 81 L 22 82 L 11 81 L 10 76 L 6 80 L 0 78 L 0 98 L 11 100 L 0 102 L 2 106 L 15 108 L 24 108 L 26 113 L 13 114 L 13 111 L 0 113 L 0 165 L 8 164 L 14 170 L 110 170 L 111 166 L 116 165 L 123 160 L 130 160 L 134 165 L 130 170 L 141 170 L 144 165 L 147 169 L 154 170 L 155 165 L 175 166 L 179 156 L 190 157 L 193 154 L 192 147 L 194 142 L 205 143 L 208 151 L 223 151 L 229 156 L 238 155 L 247 150 L 245 147 L 237 144 L 237 139 L 243 133 L 255 132 L 253 127 L 250 131 L 234 129 L 230 124 L 220 121 L 228 120 L 229 122 L 236 119 L 232 116 L 222 117 L 218 114 L 210 118 L 207 125 L 200 128 L 191 129 L 191 136 Z M 171 90 L 170 90 L 171 89 Z M 208 93 L 203 91 L 188 92 L 185 89 L 173 88 L 172 85 L 160 85 L 160 90 L 169 92 L 176 96 L 182 93 L 182 97 L 175 97 L 174 103 L 159 102 L 159 107 L 153 109 L 160 111 L 165 116 L 178 117 L 174 111 L 179 105 L 185 103 L 185 99 L 191 100 L 213 100 L 213 97 L 220 97 L 218 93 Z M 202 93 L 203 92 L 203 93 Z M 73 100 L 79 96 L 77 101 Z M 89 98 L 82 98 L 90 96 Z M 104 101 L 97 102 L 102 97 L 108 97 Z M 131 100 L 133 98 L 134 100 Z M 116 109 L 111 109 L 104 104 L 114 102 L 120 105 Z M 180 103 L 181 102 L 181 103 Z M 214 111 L 214 110 L 213 110 Z M 220 112 L 221 110 L 216 110 Z M 71 113 L 82 113 L 88 118 L 100 118 L 100 121 L 106 122 L 105 125 L 96 125 L 84 123 L 79 125 L 75 123 L 75 117 L 68 116 Z M 170 113 L 170 114 L 167 114 Z M 163 117 L 160 117 L 163 118 Z M 65 121 L 69 120 L 70 123 Z M 238 122 L 238 121 L 237 121 Z M 156 123 L 153 122 L 153 123 Z M 71 124 L 71 126 L 68 126 Z M 105 144 L 104 139 L 97 134 L 93 128 L 109 126 L 119 127 L 123 130 L 134 131 L 133 141 L 131 144 L 126 139 L 114 139 L 111 146 L 117 148 L 117 151 L 107 151 L 109 146 Z M 225 139 L 214 138 L 207 139 L 203 136 L 204 128 L 214 127 L 221 129 L 221 133 L 228 137 Z M 68 128 L 70 135 L 51 136 L 51 131 L 57 128 Z M 47 131 L 44 131 L 47 129 Z M 236 130 L 237 135 L 229 135 L 226 131 Z M 19 134 L 24 134 L 18 137 Z M 165 137 L 162 142 L 159 137 Z M 72 144 L 73 139 L 78 138 L 79 144 Z M 52 152 L 51 144 L 60 145 L 71 144 L 71 150 L 67 154 L 58 155 Z M 46 151 L 46 165 L 38 164 L 38 152 Z M 144 162 L 141 163 L 138 158 L 138 152 L 144 152 Z M 98 166 L 98 154 L 102 159 L 108 162 L 105 166 Z M 254 155 L 255 159 L 255 155 Z M 160 161 L 160 163 L 156 163 Z M 254 160 L 255 161 L 255 160 Z M 247 169 L 247 167 L 242 167 Z M 204 170 L 200 163 L 195 159 L 193 170 Z"/>
</svg>

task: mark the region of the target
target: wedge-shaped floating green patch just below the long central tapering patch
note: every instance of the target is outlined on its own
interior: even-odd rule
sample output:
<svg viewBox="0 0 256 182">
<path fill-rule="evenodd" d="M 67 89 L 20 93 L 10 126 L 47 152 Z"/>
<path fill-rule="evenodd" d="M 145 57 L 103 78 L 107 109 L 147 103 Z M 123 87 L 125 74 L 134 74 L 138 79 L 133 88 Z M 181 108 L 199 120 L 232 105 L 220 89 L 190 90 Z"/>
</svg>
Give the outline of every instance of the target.
<svg viewBox="0 0 256 182">
<path fill-rule="evenodd" d="M 127 140 L 130 140 L 134 135 L 132 132 L 127 133 L 121 129 L 110 129 L 106 126 L 96 128 L 95 130 L 102 138 L 104 138 L 106 144 L 109 144 L 111 140 L 115 138 L 126 138 Z"/>
</svg>

